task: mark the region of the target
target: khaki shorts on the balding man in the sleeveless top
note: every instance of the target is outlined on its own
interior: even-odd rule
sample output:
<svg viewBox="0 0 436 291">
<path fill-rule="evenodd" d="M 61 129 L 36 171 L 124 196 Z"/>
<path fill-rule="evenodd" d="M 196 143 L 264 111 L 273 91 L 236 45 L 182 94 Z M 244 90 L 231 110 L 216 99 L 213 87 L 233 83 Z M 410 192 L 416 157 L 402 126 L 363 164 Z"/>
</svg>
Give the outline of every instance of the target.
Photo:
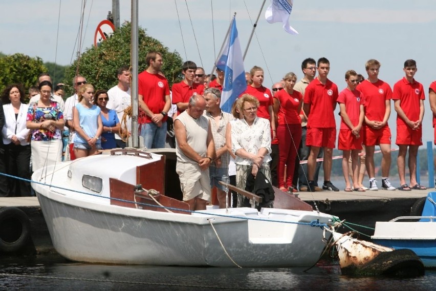
<svg viewBox="0 0 436 291">
<path fill-rule="evenodd" d="M 210 201 L 209 169 L 202 170 L 198 164 L 177 161 L 176 172 L 179 174 L 183 201 L 196 197 Z"/>
</svg>

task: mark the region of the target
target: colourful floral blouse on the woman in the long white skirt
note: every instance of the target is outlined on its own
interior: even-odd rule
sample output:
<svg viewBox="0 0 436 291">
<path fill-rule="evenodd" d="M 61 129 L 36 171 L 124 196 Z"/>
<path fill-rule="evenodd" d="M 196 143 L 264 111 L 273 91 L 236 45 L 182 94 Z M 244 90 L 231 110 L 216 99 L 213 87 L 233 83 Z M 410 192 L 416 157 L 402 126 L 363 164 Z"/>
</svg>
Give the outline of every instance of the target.
<svg viewBox="0 0 436 291">
<path fill-rule="evenodd" d="M 59 103 L 50 100 L 50 107 L 38 107 L 37 102 L 33 102 L 29 105 L 29 111 L 27 112 L 27 121 L 33 121 L 41 123 L 46 120 L 59 120 L 63 119 L 63 114 L 59 110 Z M 47 129 L 32 130 L 32 140 L 47 141 L 51 139 L 61 139 L 62 132 L 56 128 L 54 132 Z"/>
</svg>

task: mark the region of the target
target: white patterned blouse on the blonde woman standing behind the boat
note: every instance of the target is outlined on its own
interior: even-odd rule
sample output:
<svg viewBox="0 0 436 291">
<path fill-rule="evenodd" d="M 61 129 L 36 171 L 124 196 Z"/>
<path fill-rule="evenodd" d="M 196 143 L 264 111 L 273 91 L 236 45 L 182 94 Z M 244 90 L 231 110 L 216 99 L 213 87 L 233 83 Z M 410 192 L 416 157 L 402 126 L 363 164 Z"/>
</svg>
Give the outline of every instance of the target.
<svg viewBox="0 0 436 291">
<path fill-rule="evenodd" d="M 244 149 L 250 154 L 257 154 L 260 148 L 265 148 L 268 154 L 264 158 L 264 163 L 271 161 L 271 130 L 270 121 L 265 118 L 256 117 L 251 126 L 245 119 L 236 119 L 231 122 L 232 126 L 232 152 L 236 153 L 239 149 Z M 236 156 L 236 164 L 251 165 L 250 159 Z"/>
</svg>

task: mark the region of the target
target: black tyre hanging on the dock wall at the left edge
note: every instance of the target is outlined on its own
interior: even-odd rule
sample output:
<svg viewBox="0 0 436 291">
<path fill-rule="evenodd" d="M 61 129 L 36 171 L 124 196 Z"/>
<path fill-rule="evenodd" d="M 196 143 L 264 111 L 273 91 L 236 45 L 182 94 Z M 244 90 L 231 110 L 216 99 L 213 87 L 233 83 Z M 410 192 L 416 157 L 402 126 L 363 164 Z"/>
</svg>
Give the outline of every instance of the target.
<svg viewBox="0 0 436 291">
<path fill-rule="evenodd" d="M 0 252 L 18 251 L 29 237 L 30 222 L 24 211 L 16 207 L 0 209 Z"/>
</svg>

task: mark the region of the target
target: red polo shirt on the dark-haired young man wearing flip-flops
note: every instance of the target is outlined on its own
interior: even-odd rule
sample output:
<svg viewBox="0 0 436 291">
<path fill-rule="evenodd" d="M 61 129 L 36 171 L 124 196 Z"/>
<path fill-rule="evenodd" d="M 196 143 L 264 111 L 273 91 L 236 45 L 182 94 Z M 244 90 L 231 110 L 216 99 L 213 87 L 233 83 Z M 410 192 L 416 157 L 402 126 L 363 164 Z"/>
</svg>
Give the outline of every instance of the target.
<svg viewBox="0 0 436 291">
<path fill-rule="evenodd" d="M 395 83 L 392 99 L 400 100 L 400 107 L 411 121 L 419 120 L 420 100 L 425 99 L 424 87 L 420 82 L 413 79 L 409 82 L 406 77 Z M 407 126 L 404 120 L 397 114 L 397 124 Z"/>
</svg>

